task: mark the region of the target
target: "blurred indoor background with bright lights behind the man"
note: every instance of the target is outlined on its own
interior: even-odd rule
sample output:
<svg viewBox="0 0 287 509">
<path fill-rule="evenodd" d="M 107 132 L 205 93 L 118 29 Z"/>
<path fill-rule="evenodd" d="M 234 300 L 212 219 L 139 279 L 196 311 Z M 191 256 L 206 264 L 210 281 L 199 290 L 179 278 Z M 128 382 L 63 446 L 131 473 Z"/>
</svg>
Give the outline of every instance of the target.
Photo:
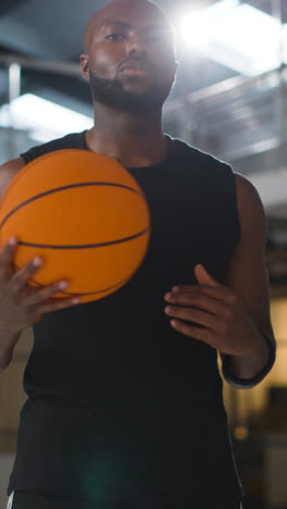
<svg viewBox="0 0 287 509">
<path fill-rule="evenodd" d="M 287 1 L 154 0 L 176 30 L 179 70 L 164 131 L 230 163 L 257 187 L 277 361 L 260 386 L 224 384 L 245 509 L 287 509 Z M 103 0 L 1 0 L 0 163 L 92 125 L 79 73 L 86 23 Z M 0 507 L 14 458 L 25 331 L 0 376 Z"/>
</svg>

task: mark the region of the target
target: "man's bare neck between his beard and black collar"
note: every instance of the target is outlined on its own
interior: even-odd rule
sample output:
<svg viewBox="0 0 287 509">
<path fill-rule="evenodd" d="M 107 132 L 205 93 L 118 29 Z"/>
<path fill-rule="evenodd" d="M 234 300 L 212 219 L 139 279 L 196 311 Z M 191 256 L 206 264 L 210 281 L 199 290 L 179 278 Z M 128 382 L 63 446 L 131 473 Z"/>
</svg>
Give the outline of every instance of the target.
<svg viewBox="0 0 287 509">
<path fill-rule="evenodd" d="M 165 158 L 167 141 L 162 112 L 128 114 L 95 104 L 95 126 L 86 133 L 88 148 L 126 167 L 150 166 Z"/>
</svg>

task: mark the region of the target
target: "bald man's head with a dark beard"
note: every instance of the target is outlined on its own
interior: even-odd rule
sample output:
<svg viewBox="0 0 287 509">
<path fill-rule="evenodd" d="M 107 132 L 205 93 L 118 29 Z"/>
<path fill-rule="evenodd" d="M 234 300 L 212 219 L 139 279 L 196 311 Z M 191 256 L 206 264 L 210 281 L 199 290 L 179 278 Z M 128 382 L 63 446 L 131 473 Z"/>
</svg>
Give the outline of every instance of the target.
<svg viewBox="0 0 287 509">
<path fill-rule="evenodd" d="M 90 18 L 80 66 L 95 103 L 159 111 L 175 83 L 173 27 L 148 0 L 114 0 Z"/>
</svg>

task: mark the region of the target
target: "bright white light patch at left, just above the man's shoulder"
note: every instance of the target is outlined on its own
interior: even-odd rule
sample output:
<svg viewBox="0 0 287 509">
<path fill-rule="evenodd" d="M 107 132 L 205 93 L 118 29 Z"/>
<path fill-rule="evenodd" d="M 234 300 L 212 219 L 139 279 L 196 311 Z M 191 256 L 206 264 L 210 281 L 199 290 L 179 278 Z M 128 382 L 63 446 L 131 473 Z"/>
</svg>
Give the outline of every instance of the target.
<svg viewBox="0 0 287 509">
<path fill-rule="evenodd" d="M 41 142 L 89 129 L 92 124 L 91 117 L 33 94 L 14 99 L 10 108 L 9 104 L 0 108 L 1 126 L 29 131 L 30 137 Z"/>
</svg>

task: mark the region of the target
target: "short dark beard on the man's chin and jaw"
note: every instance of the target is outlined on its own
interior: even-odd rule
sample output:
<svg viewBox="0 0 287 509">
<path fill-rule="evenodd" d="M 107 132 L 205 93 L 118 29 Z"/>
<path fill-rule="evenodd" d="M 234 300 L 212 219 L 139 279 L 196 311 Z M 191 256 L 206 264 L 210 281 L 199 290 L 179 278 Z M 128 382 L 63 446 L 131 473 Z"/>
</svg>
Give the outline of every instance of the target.
<svg viewBox="0 0 287 509">
<path fill-rule="evenodd" d="M 114 110 L 127 113 L 144 113 L 161 110 L 174 82 L 170 84 L 150 86 L 147 91 L 132 92 L 116 77 L 104 79 L 90 71 L 90 89 L 95 102 L 99 102 Z"/>
</svg>

